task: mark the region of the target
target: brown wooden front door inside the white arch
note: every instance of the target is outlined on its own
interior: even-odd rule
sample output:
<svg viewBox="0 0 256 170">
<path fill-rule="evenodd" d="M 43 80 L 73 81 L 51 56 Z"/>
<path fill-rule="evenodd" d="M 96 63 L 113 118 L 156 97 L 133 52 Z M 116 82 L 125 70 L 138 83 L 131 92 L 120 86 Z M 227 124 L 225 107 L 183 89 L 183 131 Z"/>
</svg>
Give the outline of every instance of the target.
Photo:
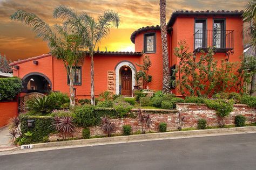
<svg viewBox="0 0 256 170">
<path fill-rule="evenodd" d="M 123 69 L 121 72 L 121 95 L 132 95 L 132 72 L 130 69 Z"/>
</svg>

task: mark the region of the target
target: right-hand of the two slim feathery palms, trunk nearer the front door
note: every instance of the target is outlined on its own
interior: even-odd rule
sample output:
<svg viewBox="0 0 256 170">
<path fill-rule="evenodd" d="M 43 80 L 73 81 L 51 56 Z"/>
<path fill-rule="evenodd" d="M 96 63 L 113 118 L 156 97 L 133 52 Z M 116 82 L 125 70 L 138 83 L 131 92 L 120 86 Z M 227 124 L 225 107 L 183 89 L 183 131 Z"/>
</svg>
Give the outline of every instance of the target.
<svg viewBox="0 0 256 170">
<path fill-rule="evenodd" d="M 93 53 L 99 41 L 109 34 L 110 28 L 118 27 L 119 15 L 113 11 L 105 11 L 96 21 L 87 13 L 76 13 L 68 6 L 60 5 L 53 12 L 53 16 L 61 17 L 65 20 L 66 27 L 82 37 L 83 48 L 91 58 L 91 104 L 95 105 Z"/>
</svg>

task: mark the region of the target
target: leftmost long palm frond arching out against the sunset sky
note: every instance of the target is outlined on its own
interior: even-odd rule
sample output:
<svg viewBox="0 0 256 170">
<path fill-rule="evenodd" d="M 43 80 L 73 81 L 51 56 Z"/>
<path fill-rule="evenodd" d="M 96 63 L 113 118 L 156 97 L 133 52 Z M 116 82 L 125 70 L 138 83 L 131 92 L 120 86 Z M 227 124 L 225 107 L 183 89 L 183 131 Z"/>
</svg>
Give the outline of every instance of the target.
<svg viewBox="0 0 256 170">
<path fill-rule="evenodd" d="M 45 23 L 41 18 L 37 17 L 34 13 L 28 13 L 23 10 L 18 10 L 11 15 L 12 20 L 18 20 L 31 27 L 37 33 L 38 37 L 43 40 L 49 40 L 55 37 L 55 33 L 51 30 L 49 24 Z"/>
</svg>

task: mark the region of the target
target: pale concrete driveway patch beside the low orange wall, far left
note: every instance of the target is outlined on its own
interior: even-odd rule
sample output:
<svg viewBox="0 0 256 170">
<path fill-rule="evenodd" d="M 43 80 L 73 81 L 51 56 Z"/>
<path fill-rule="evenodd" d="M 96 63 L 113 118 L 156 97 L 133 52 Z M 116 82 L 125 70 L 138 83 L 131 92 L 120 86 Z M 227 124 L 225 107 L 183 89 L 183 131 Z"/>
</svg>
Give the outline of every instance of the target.
<svg viewBox="0 0 256 170">
<path fill-rule="evenodd" d="M 1 128 L 0 129 L 0 150 L 16 147 L 16 146 L 12 145 L 9 138 L 10 138 L 10 133 L 9 133 L 8 126 Z"/>
</svg>

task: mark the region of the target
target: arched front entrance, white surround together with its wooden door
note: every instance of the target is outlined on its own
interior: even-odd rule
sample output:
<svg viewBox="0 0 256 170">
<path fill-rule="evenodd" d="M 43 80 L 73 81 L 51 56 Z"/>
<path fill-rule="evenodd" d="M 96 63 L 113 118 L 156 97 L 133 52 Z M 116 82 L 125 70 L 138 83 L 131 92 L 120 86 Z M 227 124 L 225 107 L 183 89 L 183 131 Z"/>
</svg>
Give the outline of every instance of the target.
<svg viewBox="0 0 256 170">
<path fill-rule="evenodd" d="M 120 61 L 116 68 L 116 94 L 132 96 L 132 89 L 135 86 L 135 66 L 130 61 Z"/>
</svg>

